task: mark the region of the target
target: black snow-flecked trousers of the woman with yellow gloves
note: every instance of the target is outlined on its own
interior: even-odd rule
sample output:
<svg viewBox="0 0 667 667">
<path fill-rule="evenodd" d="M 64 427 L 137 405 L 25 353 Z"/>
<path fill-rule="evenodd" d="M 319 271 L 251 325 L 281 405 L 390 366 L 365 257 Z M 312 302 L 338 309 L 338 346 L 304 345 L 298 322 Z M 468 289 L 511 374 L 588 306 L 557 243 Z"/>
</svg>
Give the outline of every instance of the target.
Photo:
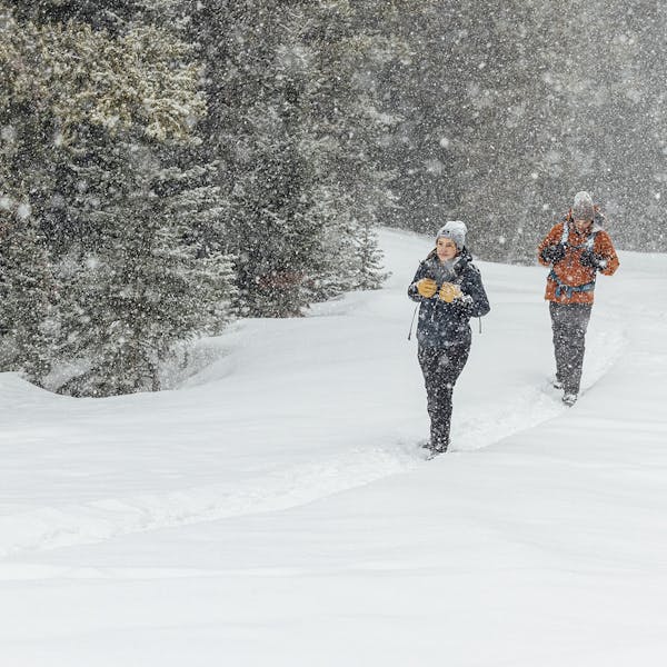
<svg viewBox="0 0 667 667">
<path fill-rule="evenodd" d="M 470 340 L 445 348 L 419 346 L 417 356 L 424 374 L 431 449 L 446 451 L 451 426 L 451 394 L 470 354 Z"/>
</svg>

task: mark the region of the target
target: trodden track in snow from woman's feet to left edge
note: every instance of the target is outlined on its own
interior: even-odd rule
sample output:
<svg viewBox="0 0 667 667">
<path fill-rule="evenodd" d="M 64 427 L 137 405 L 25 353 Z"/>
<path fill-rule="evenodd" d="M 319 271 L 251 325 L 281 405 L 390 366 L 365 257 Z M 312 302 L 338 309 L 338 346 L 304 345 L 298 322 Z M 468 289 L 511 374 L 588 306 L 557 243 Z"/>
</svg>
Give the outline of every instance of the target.
<svg viewBox="0 0 667 667">
<path fill-rule="evenodd" d="M 278 511 L 411 469 L 409 451 L 349 451 L 345 459 L 285 467 L 261 477 L 169 494 L 110 497 L 0 516 L 0 558 L 247 514 Z"/>
</svg>

